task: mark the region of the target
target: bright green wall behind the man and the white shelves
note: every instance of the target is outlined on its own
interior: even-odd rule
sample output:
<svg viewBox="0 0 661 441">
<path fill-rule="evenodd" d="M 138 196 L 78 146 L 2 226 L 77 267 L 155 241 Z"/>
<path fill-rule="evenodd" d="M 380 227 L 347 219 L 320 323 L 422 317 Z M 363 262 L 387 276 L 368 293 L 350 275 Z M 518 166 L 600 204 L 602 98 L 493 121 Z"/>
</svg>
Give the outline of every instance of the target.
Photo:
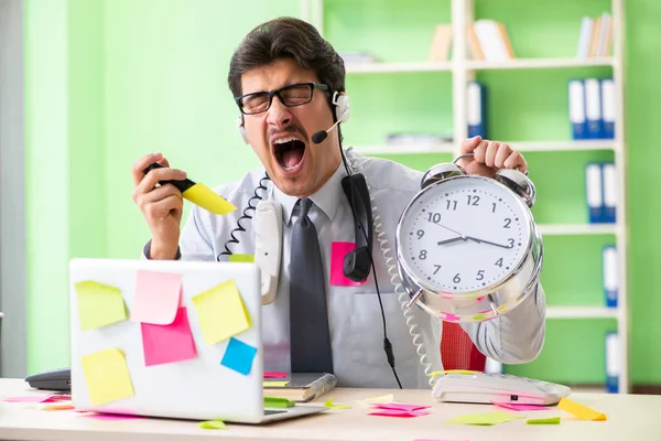
<svg viewBox="0 0 661 441">
<path fill-rule="evenodd" d="M 433 25 L 449 21 L 449 0 L 333 0 L 325 33 L 338 51 L 370 50 L 383 61 L 423 61 Z M 377 8 L 378 3 L 378 8 Z M 609 1 L 476 1 L 477 18 L 508 25 L 518 56 L 573 56 L 579 19 Z M 654 169 L 661 160 L 653 127 L 661 100 L 658 28 L 661 3 L 627 2 L 627 141 L 630 219 L 631 378 L 659 383 L 654 351 L 661 324 L 661 202 Z M 299 0 L 26 1 L 26 168 L 29 240 L 29 370 L 68 364 L 67 261 L 71 257 L 134 258 L 148 229 L 131 200 L 130 169 L 161 151 L 192 179 L 216 185 L 258 165 L 234 126 L 226 85 L 240 37 L 279 15 L 299 15 Z M 535 20 L 530 20 L 535 17 Z M 568 139 L 566 82 L 606 76 L 607 68 L 489 72 L 490 137 Z M 348 144 L 375 144 L 387 130 L 452 131 L 447 73 L 349 75 Z M 416 169 L 443 154 L 397 155 Z M 540 223 L 583 222 L 583 166 L 611 152 L 529 153 Z M 602 302 L 598 252 L 611 236 L 545 239 L 543 283 L 549 304 Z M 581 265 L 576 265 L 581 263 Z M 557 276 L 560 275 L 560 276 Z M 508 370 L 568 383 L 603 381 L 603 336 L 609 320 L 548 324 L 539 359 Z"/>
</svg>

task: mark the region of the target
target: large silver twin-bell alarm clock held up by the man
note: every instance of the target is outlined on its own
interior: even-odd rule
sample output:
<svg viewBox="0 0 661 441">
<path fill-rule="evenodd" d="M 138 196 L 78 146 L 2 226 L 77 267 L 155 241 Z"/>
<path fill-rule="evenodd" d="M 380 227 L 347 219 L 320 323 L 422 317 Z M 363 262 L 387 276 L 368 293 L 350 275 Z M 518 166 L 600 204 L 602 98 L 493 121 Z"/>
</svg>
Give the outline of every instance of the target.
<svg viewBox="0 0 661 441">
<path fill-rule="evenodd" d="M 502 169 L 469 175 L 457 164 L 434 165 L 397 226 L 397 265 L 410 300 L 448 322 L 483 322 L 534 293 L 542 236 L 530 208 L 527 173 Z"/>
</svg>

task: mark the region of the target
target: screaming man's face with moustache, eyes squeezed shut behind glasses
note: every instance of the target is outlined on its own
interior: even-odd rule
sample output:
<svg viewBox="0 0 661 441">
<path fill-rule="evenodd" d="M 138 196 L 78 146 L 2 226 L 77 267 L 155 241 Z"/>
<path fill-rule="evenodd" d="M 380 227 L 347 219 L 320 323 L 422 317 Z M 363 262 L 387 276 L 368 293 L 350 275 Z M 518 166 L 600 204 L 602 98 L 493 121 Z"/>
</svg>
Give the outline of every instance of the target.
<svg viewBox="0 0 661 441">
<path fill-rule="evenodd" d="M 318 79 L 313 71 L 301 68 L 293 58 L 277 60 L 241 76 L 243 95 L 300 83 L 318 83 Z M 286 107 L 273 96 L 267 111 L 245 115 L 243 120 L 248 141 L 273 183 L 285 194 L 310 196 L 339 165 L 336 130 L 319 144 L 311 140 L 315 132 L 333 125 L 326 90 L 314 89 L 310 103 L 295 107 Z"/>
</svg>

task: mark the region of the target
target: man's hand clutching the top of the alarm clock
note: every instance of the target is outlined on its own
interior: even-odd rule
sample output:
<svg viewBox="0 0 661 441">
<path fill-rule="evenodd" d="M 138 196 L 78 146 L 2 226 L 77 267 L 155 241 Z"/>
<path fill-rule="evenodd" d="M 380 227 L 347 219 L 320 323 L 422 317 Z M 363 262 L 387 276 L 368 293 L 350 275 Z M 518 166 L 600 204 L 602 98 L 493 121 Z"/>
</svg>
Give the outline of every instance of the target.
<svg viewBox="0 0 661 441">
<path fill-rule="evenodd" d="M 500 169 L 517 169 L 520 172 L 528 170 L 521 153 L 506 143 L 489 141 L 480 136 L 462 142 L 460 154 L 464 153 L 473 153 L 473 158 L 463 158 L 458 162 L 468 174 L 491 178 Z"/>
</svg>

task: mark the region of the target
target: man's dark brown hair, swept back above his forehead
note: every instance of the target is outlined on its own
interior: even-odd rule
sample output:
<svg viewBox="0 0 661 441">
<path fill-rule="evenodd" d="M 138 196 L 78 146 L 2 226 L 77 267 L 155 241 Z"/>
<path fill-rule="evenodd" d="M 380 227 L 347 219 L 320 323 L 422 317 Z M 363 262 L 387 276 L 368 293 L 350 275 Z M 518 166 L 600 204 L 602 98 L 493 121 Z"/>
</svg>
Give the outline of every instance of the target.
<svg viewBox="0 0 661 441">
<path fill-rule="evenodd" d="M 330 43 L 312 24 L 280 18 L 250 31 L 232 54 L 227 75 L 232 95 L 241 95 L 242 74 L 284 57 L 294 58 L 301 67 L 314 71 L 319 83 L 326 84 L 332 92 L 345 92 L 344 61 Z"/>
</svg>

